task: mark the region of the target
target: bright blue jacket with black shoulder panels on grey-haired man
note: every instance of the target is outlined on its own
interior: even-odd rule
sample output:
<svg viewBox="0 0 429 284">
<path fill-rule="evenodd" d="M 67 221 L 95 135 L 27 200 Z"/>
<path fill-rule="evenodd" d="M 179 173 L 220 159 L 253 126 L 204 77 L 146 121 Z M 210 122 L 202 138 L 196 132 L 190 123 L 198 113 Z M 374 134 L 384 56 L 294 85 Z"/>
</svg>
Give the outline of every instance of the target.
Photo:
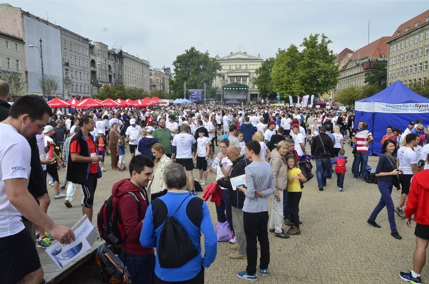
<svg viewBox="0 0 429 284">
<path fill-rule="evenodd" d="M 165 205 L 167 205 L 168 216 L 172 216 L 180 203 L 189 196 L 188 192 L 167 192 L 165 196 L 160 197 Z M 195 208 L 201 208 L 202 212 L 198 212 Z M 161 230 L 164 226 L 165 219 L 162 224 L 158 224 L 157 218 L 164 216 L 164 213 L 159 212 L 159 208 L 152 208 L 152 203 L 146 211 L 145 222 L 140 233 L 140 244 L 144 247 L 159 247 L 159 238 Z M 155 211 L 155 212 L 154 212 Z M 193 221 L 198 220 L 200 216 L 201 223 L 194 224 Z M 154 220 L 155 217 L 155 220 Z M 200 198 L 191 197 L 185 200 L 179 211 L 174 215 L 174 218 L 183 226 L 188 233 L 198 254 L 189 262 L 178 268 L 163 268 L 160 266 L 159 259 L 155 263 L 155 274 L 163 281 L 185 281 L 194 278 L 201 271 L 201 264 L 204 267 L 209 267 L 215 261 L 218 241 L 211 223 L 210 212 L 205 202 Z M 196 226 L 196 225 L 199 225 Z M 157 227 L 155 227 L 157 226 Z M 201 255 L 200 232 L 204 234 L 204 256 Z M 174 238 L 174 236 L 172 236 Z"/>
</svg>

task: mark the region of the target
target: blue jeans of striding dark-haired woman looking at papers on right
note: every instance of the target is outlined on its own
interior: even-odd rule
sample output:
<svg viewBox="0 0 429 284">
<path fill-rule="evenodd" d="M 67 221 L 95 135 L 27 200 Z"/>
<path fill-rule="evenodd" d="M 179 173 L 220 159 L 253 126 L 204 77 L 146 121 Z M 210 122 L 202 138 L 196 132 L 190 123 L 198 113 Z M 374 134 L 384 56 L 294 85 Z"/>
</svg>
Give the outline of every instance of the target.
<svg viewBox="0 0 429 284">
<path fill-rule="evenodd" d="M 391 196 L 393 184 L 392 182 L 379 180 L 377 185 L 381 193 L 381 198 L 377 206 L 374 208 L 374 211 L 371 214 L 369 220 L 375 221 L 375 219 L 377 218 L 377 215 L 386 206 L 387 218 L 389 219 L 389 224 L 390 224 L 390 231 L 396 232 L 397 229 L 396 229 L 396 222 L 395 222 L 395 206 L 393 205 L 393 200 Z"/>
</svg>

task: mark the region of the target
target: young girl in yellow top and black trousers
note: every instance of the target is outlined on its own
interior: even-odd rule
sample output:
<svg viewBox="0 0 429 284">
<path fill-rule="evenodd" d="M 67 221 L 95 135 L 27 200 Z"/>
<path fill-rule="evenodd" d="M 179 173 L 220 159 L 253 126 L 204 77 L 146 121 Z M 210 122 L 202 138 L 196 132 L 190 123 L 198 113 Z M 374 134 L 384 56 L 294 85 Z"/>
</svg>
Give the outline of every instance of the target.
<svg viewBox="0 0 429 284">
<path fill-rule="evenodd" d="M 306 182 L 307 179 L 302 174 L 298 167 L 298 161 L 294 155 L 286 156 L 288 164 L 288 196 L 289 208 L 291 216 L 291 228 L 286 232 L 288 235 L 300 235 L 300 200 L 302 196 L 301 182 Z"/>
</svg>

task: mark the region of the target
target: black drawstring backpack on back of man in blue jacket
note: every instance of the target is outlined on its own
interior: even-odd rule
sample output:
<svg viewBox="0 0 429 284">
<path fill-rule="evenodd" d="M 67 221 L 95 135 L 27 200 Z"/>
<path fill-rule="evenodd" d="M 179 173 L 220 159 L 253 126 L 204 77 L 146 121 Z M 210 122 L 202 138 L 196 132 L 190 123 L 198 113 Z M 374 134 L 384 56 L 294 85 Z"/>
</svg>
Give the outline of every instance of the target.
<svg viewBox="0 0 429 284">
<path fill-rule="evenodd" d="M 183 202 L 185 202 L 185 200 L 190 196 L 191 195 L 188 195 L 183 199 L 179 207 L 171 216 L 168 216 L 168 212 L 166 214 L 161 209 L 159 203 L 163 202 L 162 200 L 157 198 L 152 201 L 152 210 L 154 206 L 158 206 L 166 218 L 161 229 L 157 248 L 158 260 L 160 266 L 163 268 L 177 268 L 183 266 L 198 254 L 198 251 L 195 248 L 195 245 L 193 244 L 188 233 L 185 231 L 179 221 L 174 218 L 174 215 L 177 213 L 177 211 L 179 211 Z"/>
</svg>

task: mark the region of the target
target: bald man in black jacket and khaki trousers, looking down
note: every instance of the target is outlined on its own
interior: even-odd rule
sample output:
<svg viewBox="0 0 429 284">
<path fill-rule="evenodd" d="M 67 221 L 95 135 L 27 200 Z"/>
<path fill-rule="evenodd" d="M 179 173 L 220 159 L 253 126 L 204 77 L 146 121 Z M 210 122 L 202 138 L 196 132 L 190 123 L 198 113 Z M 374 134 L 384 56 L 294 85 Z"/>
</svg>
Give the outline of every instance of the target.
<svg viewBox="0 0 429 284">
<path fill-rule="evenodd" d="M 231 196 L 232 219 L 234 224 L 234 233 L 237 239 L 237 242 L 231 245 L 231 249 L 237 250 L 237 252 L 231 253 L 230 258 L 241 259 L 247 257 L 247 243 L 243 223 L 243 205 L 246 196 L 241 191 L 236 190 L 236 188 L 233 190 L 230 178 L 245 174 L 244 168 L 250 164 L 250 161 L 246 159 L 244 155 L 240 155 L 240 149 L 235 145 L 229 146 L 226 154 L 232 161 L 233 167 L 230 175 L 219 179 L 218 184 L 224 188 L 228 188 Z"/>
</svg>

